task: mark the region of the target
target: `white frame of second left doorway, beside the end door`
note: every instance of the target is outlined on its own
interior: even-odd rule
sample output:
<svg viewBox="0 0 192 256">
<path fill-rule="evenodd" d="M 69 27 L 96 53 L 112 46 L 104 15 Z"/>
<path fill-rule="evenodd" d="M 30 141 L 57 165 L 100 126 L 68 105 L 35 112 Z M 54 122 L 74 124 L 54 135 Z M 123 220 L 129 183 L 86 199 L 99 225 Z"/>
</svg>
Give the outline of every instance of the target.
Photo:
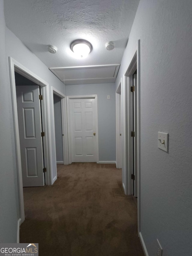
<svg viewBox="0 0 192 256">
<path fill-rule="evenodd" d="M 63 136 L 63 164 L 69 164 L 69 151 L 68 151 L 68 134 L 67 134 L 67 97 L 58 89 L 51 86 L 51 113 L 53 120 L 55 120 L 54 114 L 54 100 L 53 94 L 57 95 L 61 98 L 61 123 L 62 123 L 62 134 Z M 56 143 L 55 143 L 55 122 L 52 122 L 53 128 L 53 146 L 54 146 L 54 158 L 55 158 L 55 170 L 57 170 L 57 160 L 56 160 Z M 57 179 L 57 172 L 56 176 L 53 178 L 55 181 Z"/>
</svg>

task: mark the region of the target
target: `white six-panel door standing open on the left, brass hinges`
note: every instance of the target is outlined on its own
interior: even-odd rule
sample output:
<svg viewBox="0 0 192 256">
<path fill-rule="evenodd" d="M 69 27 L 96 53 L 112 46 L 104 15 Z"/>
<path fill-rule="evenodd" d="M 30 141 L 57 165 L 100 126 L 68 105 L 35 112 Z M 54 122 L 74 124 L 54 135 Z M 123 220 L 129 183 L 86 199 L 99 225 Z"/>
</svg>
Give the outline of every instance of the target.
<svg viewBox="0 0 192 256">
<path fill-rule="evenodd" d="M 44 186 L 39 86 L 16 86 L 23 187 Z"/>
</svg>

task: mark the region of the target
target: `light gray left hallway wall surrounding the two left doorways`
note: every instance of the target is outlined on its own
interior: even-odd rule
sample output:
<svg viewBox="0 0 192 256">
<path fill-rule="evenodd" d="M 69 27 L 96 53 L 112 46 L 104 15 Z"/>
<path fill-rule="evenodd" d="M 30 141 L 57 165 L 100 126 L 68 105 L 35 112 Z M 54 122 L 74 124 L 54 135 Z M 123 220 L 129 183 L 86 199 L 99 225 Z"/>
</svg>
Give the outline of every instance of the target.
<svg viewBox="0 0 192 256">
<path fill-rule="evenodd" d="M 16 242 L 17 220 L 19 219 L 19 200 L 8 56 L 12 57 L 20 64 L 28 68 L 30 71 L 41 77 L 47 83 L 49 83 L 49 102 L 51 95 L 50 87 L 54 86 L 54 88 L 64 93 L 64 85 L 28 48 L 24 46 L 24 44 L 22 44 L 22 42 L 9 29 L 5 27 L 2 0 L 0 0 L 0 30 L 0 41 L 2 47 L 0 53 L 0 194 L 3 195 L 0 199 L 0 242 Z M 54 122 L 52 116 L 50 116 L 50 121 Z M 53 131 L 51 127 L 51 137 L 53 137 L 52 134 Z M 55 147 L 53 143 L 51 149 L 52 155 L 54 155 Z M 53 159 L 53 176 L 55 175 L 55 172 L 55 161 Z"/>
</svg>

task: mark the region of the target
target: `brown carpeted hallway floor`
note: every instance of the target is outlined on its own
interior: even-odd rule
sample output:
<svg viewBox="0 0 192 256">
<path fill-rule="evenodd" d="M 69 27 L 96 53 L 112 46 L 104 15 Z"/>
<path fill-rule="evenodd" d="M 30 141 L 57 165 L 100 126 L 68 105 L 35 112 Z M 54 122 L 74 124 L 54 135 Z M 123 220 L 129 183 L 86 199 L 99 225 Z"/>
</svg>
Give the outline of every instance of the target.
<svg viewBox="0 0 192 256">
<path fill-rule="evenodd" d="M 52 186 L 23 188 L 21 243 L 39 243 L 40 256 L 143 256 L 137 207 L 115 164 L 57 166 Z"/>
</svg>

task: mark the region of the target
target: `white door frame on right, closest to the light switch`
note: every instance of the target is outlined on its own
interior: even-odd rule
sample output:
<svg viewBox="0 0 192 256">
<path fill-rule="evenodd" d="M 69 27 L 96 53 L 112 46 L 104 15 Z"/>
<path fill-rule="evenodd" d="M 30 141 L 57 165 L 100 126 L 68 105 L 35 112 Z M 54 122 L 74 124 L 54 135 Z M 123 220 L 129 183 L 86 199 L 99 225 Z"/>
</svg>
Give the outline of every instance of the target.
<svg viewBox="0 0 192 256">
<path fill-rule="evenodd" d="M 123 165 L 125 166 L 125 174 L 126 174 L 126 186 L 125 186 L 125 193 L 126 195 L 131 195 L 133 191 L 133 185 L 131 180 L 131 172 L 133 166 L 133 157 L 131 153 L 131 120 L 128 118 L 131 116 L 131 109 L 132 109 L 132 92 L 130 90 L 130 86 L 132 86 L 133 79 L 132 75 L 137 69 L 137 216 L 138 216 L 138 234 L 140 233 L 140 198 L 141 198 L 141 191 L 140 191 L 140 40 L 137 41 L 137 44 L 133 50 L 131 55 L 130 61 L 128 62 L 128 66 L 123 73 L 123 94 L 124 94 L 124 102 L 123 107 L 125 107 L 125 123 L 124 123 L 124 130 L 125 130 L 125 154 L 126 158 L 123 159 Z M 122 124 L 123 125 L 123 124 Z"/>
</svg>

